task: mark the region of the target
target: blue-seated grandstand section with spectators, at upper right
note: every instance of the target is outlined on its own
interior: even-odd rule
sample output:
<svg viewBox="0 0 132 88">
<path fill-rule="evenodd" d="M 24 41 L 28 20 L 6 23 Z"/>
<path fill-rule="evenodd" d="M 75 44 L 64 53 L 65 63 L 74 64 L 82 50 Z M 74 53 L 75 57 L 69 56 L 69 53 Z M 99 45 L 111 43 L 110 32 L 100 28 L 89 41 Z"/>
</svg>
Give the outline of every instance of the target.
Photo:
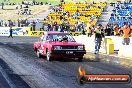
<svg viewBox="0 0 132 88">
<path fill-rule="evenodd" d="M 120 27 L 124 22 L 132 25 L 132 3 L 116 3 L 113 5 L 113 13 L 111 14 L 110 23 L 117 23 Z"/>
</svg>

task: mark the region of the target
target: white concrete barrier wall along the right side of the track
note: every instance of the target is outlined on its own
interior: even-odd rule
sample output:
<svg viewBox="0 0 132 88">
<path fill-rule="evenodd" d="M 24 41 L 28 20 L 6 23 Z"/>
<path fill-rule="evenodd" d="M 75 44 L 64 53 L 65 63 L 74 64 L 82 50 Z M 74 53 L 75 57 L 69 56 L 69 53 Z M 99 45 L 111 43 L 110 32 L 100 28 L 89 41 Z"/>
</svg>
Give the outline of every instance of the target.
<svg viewBox="0 0 132 88">
<path fill-rule="evenodd" d="M 94 37 L 87 37 L 86 35 L 74 36 L 75 40 L 78 43 L 82 43 L 85 45 L 87 51 L 94 52 Z M 114 50 L 118 50 L 118 55 L 121 57 L 130 57 L 132 58 L 132 37 L 130 38 L 130 45 L 122 45 L 122 37 L 118 36 L 110 36 L 106 38 L 111 38 L 114 43 Z M 101 45 L 100 52 L 106 53 L 105 44 Z"/>
</svg>

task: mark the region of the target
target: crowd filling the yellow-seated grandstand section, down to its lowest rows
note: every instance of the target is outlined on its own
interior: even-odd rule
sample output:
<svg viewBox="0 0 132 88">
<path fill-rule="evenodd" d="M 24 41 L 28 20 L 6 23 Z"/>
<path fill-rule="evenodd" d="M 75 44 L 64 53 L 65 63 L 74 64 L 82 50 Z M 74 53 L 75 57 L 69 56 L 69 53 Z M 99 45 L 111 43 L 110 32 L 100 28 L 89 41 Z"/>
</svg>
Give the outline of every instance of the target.
<svg viewBox="0 0 132 88">
<path fill-rule="evenodd" d="M 87 5 L 86 5 L 87 4 Z M 81 32 L 83 30 L 93 29 L 106 3 L 75 3 L 65 4 L 65 2 L 54 6 L 53 13 L 50 13 L 44 19 L 42 29 L 47 26 L 46 31 L 67 31 Z M 103 6 L 104 5 L 104 6 Z M 89 25 L 90 24 L 90 25 Z M 87 26 L 89 25 L 89 26 Z"/>
</svg>

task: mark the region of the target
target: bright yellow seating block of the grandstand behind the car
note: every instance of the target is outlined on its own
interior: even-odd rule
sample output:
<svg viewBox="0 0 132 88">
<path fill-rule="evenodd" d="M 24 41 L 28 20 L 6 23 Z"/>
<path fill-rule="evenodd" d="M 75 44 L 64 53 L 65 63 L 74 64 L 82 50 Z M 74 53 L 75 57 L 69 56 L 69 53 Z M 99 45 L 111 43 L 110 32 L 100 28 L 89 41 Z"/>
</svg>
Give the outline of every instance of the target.
<svg viewBox="0 0 132 88">
<path fill-rule="evenodd" d="M 62 16 L 62 18 L 64 18 L 70 24 L 70 26 L 74 26 L 77 23 L 78 19 L 81 22 L 84 22 L 85 25 L 91 22 L 91 26 L 94 26 L 97 22 L 97 18 L 101 16 L 101 13 L 106 5 L 106 3 L 62 3 L 61 12 L 48 14 L 48 19 L 50 19 L 51 22 L 49 20 L 46 20 L 45 23 L 57 22 L 57 24 L 62 24 L 61 19 L 58 19 Z M 78 11 L 80 15 L 74 17 L 76 11 Z M 69 17 L 64 15 L 65 12 L 69 13 Z"/>
</svg>

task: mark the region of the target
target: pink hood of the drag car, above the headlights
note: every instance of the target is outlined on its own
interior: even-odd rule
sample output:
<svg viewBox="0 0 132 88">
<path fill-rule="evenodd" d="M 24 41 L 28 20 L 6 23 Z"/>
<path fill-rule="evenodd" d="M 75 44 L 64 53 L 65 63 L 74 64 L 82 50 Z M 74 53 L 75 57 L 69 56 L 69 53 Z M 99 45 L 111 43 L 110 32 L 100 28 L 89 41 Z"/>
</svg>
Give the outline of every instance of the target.
<svg viewBox="0 0 132 88">
<path fill-rule="evenodd" d="M 78 46 L 78 45 L 83 45 L 81 43 L 77 43 L 77 42 L 47 42 L 50 45 L 60 45 L 60 46 L 67 46 L 67 45 L 71 45 L 71 46 Z"/>
</svg>

